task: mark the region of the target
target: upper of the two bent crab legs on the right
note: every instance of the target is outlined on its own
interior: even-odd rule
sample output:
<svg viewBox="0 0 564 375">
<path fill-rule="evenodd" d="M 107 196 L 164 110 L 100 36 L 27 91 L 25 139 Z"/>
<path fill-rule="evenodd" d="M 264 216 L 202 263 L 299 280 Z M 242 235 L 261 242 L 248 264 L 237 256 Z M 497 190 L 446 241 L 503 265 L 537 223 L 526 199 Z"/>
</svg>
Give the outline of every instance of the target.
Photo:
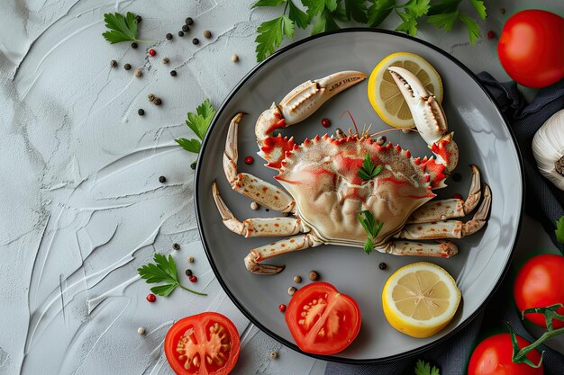
<svg viewBox="0 0 564 375">
<path fill-rule="evenodd" d="M 474 210 L 478 206 L 482 192 L 478 167 L 476 165 L 470 166 L 472 168 L 472 183 L 470 183 L 470 191 L 466 201 L 456 198 L 429 201 L 419 209 L 414 210 L 411 217 L 407 219 L 407 223 L 433 223 L 446 219 L 462 218 Z M 489 187 L 487 187 L 487 190 L 489 192 Z"/>
</svg>

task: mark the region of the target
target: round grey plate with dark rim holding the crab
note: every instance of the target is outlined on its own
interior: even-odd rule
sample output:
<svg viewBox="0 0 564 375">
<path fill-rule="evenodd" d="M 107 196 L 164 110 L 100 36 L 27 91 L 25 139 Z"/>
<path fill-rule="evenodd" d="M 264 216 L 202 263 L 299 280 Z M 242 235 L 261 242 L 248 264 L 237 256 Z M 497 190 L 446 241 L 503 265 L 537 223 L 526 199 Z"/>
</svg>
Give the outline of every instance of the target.
<svg viewBox="0 0 564 375">
<path fill-rule="evenodd" d="M 408 51 L 421 55 L 437 69 L 444 85 L 443 108 L 449 127 L 455 132 L 460 149 L 457 170 L 462 180 L 447 180 L 448 188 L 437 191 L 438 198 L 454 193 L 466 196 L 470 183 L 470 169 L 476 164 L 483 181 L 493 193 L 491 216 L 487 226 L 474 236 L 457 242 L 459 254 L 450 259 L 400 257 L 388 254 L 367 255 L 361 248 L 319 246 L 269 260 L 286 264 L 287 268 L 274 276 L 248 272 L 243 258 L 250 248 L 268 244 L 270 238 L 239 237 L 223 227 L 214 206 L 211 184 L 217 180 L 223 198 L 239 219 L 277 217 L 277 212 L 250 210 L 250 201 L 232 192 L 222 168 L 223 147 L 228 124 L 239 111 L 248 112 L 239 129 L 239 170 L 250 172 L 268 182 L 276 183 L 275 171 L 262 166 L 256 156 L 258 147 L 254 125 L 260 112 L 277 103 L 296 85 L 308 79 L 320 78 L 341 70 L 369 73 L 388 54 Z M 368 80 L 367 80 L 368 81 Z M 378 118 L 367 97 L 367 81 L 333 98 L 302 124 L 284 129 L 284 135 L 294 135 L 296 141 L 306 137 L 334 132 L 337 127 L 351 127 L 349 110 L 357 124 L 372 124 L 371 130 L 389 129 Z M 332 120 L 325 129 L 321 119 Z M 416 133 L 401 131 L 386 134 L 389 140 L 409 148 L 414 156 L 431 156 L 425 142 Z M 255 156 L 253 165 L 245 165 L 245 156 Z M 295 285 L 294 275 L 304 277 L 311 270 L 320 272 L 322 281 L 332 283 L 359 303 L 362 326 L 357 339 L 350 346 L 325 360 L 339 362 L 384 362 L 414 354 L 454 335 L 475 317 L 488 296 L 496 290 L 505 275 L 521 222 L 523 208 L 523 178 L 521 159 L 511 130 L 491 98 L 467 67 L 441 49 L 421 40 L 414 40 L 391 31 L 348 29 L 302 40 L 282 49 L 254 68 L 232 91 L 218 111 L 202 147 L 196 170 L 196 214 L 205 251 L 233 302 L 250 320 L 283 344 L 296 350 L 288 331 L 284 314 L 278 312 L 280 303 L 287 303 L 287 289 Z M 275 238 L 276 239 L 276 238 Z M 381 291 L 387 277 L 399 267 L 418 261 L 441 265 L 456 279 L 462 293 L 459 310 L 445 329 L 426 339 L 416 339 L 397 332 L 387 324 L 381 307 Z M 378 263 L 387 263 L 387 270 Z M 301 284 L 301 285 L 304 285 Z M 299 285 L 296 285 L 299 287 Z"/>
</svg>

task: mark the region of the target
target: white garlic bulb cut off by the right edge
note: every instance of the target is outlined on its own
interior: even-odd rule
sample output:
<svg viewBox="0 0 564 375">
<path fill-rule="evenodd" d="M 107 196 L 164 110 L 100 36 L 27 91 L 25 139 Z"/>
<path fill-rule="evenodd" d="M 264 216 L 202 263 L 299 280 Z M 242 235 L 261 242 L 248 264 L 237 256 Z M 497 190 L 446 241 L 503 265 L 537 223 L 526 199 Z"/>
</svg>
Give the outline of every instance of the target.
<svg viewBox="0 0 564 375">
<path fill-rule="evenodd" d="M 564 190 L 564 110 L 554 113 L 532 138 L 532 155 L 541 174 Z"/>
</svg>

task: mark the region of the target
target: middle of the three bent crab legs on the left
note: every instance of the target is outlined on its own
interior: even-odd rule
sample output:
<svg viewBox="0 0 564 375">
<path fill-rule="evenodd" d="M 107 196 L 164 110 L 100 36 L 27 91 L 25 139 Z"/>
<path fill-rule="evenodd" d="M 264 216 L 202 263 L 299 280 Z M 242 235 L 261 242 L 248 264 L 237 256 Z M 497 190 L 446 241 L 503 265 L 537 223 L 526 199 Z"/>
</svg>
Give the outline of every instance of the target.
<svg viewBox="0 0 564 375">
<path fill-rule="evenodd" d="M 295 218 L 259 218 L 239 221 L 223 201 L 215 182 L 212 184 L 212 194 L 217 210 L 222 215 L 223 224 L 238 235 L 244 237 L 280 237 L 309 232 L 309 228 L 303 226 L 302 220 Z"/>
</svg>

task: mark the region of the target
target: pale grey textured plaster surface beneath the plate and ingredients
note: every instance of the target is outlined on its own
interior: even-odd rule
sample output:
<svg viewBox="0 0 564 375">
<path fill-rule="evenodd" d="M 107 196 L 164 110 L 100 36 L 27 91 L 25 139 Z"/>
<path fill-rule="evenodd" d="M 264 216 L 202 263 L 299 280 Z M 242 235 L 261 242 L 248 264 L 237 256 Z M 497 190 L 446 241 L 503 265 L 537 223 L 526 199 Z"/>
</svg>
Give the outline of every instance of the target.
<svg viewBox="0 0 564 375">
<path fill-rule="evenodd" d="M 161 350 L 168 326 L 205 310 L 232 318 L 241 333 L 237 374 L 323 374 L 325 363 L 281 347 L 249 324 L 215 280 L 198 243 L 194 156 L 187 111 L 209 97 L 216 107 L 255 65 L 259 22 L 280 9 L 250 10 L 253 0 L 2 0 L 0 4 L 0 374 L 170 374 Z M 530 4 L 529 6 L 527 6 Z M 488 1 L 483 34 L 533 2 Z M 562 13 L 560 0 L 535 6 Z M 506 13 L 499 13 L 500 7 Z M 146 43 L 110 45 L 103 14 L 141 14 Z M 187 16 L 192 31 L 178 38 Z M 392 15 L 382 26 L 393 29 Z M 209 29 L 211 40 L 202 32 Z M 165 40 L 167 32 L 174 34 Z M 301 33 L 300 33 L 301 32 Z M 296 39 L 304 37 L 296 32 Z M 200 44 L 191 39 L 197 36 Z M 466 31 L 422 25 L 419 38 L 473 71 L 507 76 L 496 40 L 470 46 Z M 237 53 L 241 61 L 230 60 Z M 163 57 L 170 64 L 160 63 Z M 116 59 L 118 68 L 110 68 Z M 123 64 L 141 67 L 135 78 Z M 172 68 L 177 77 L 169 76 Z M 313 77 L 314 78 L 314 77 Z M 148 102 L 157 94 L 163 104 Z M 144 108 L 145 116 L 137 115 Z M 159 175 L 167 183 L 158 181 Z M 520 248 L 549 246 L 526 222 Z M 536 229 L 533 229 L 536 228 Z M 179 273 L 192 268 L 198 297 L 177 290 L 154 304 L 137 267 L 156 251 L 175 252 Z M 184 280 L 186 281 L 186 280 Z M 192 285 L 194 286 L 194 285 Z M 144 326 L 147 335 L 137 335 Z M 268 353 L 280 352 L 272 361 Z"/>
</svg>

